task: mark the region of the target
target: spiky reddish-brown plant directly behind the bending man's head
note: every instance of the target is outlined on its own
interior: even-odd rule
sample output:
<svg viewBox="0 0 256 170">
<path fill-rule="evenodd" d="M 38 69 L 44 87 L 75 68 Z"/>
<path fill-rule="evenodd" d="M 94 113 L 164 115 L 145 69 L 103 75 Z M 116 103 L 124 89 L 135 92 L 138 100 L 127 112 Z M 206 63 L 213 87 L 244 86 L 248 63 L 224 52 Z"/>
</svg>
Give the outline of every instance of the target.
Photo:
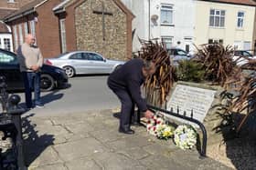
<svg viewBox="0 0 256 170">
<path fill-rule="evenodd" d="M 165 45 L 156 40 L 145 41 L 140 39 L 142 44 L 138 56 L 143 59 L 155 62 L 155 75 L 148 77 L 144 83 L 145 95 L 150 104 L 163 105 L 166 102 L 166 96 L 174 83 L 175 70 L 171 66 L 170 57 L 165 49 Z"/>
</svg>

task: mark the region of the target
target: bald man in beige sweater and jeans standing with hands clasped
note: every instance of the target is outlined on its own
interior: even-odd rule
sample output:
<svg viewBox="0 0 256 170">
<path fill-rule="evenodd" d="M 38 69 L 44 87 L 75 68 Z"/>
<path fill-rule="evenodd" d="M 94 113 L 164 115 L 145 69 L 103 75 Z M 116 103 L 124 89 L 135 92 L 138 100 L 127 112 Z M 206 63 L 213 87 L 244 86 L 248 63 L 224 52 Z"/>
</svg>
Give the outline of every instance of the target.
<svg viewBox="0 0 256 170">
<path fill-rule="evenodd" d="M 26 35 L 25 43 L 17 49 L 20 71 L 23 76 L 27 109 L 33 107 L 32 91 L 34 89 L 35 106 L 44 107 L 40 101 L 40 68 L 43 65 L 43 56 L 35 44 L 34 35 Z"/>
</svg>

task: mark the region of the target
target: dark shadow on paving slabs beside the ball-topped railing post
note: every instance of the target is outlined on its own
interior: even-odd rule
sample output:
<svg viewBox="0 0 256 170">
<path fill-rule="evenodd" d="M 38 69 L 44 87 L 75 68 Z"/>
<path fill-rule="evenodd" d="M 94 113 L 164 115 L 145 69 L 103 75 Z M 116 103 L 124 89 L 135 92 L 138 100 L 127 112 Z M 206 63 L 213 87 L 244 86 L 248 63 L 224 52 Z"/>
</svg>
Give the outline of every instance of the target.
<svg viewBox="0 0 256 170">
<path fill-rule="evenodd" d="M 34 114 L 22 117 L 23 150 L 25 164 L 27 166 L 33 163 L 49 145 L 53 145 L 53 141 L 55 140 L 54 135 L 38 135 L 38 131 L 36 130 L 37 125 L 29 120 L 33 115 Z"/>
</svg>

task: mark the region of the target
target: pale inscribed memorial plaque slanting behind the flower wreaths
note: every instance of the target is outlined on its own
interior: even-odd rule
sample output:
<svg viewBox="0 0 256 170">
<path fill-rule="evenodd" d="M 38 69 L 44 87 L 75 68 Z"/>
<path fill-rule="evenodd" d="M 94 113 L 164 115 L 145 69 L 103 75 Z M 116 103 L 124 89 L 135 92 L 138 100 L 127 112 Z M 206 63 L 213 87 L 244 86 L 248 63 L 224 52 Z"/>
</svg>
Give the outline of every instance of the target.
<svg viewBox="0 0 256 170">
<path fill-rule="evenodd" d="M 193 110 L 193 118 L 203 123 L 205 116 L 213 102 L 216 91 L 208 90 L 204 88 L 198 88 L 188 85 L 176 85 L 176 88 L 171 95 L 170 100 L 167 102 L 167 110 L 170 111 L 173 108 L 173 112 L 177 112 L 183 115 L 186 112 L 187 116 L 190 117 L 191 110 Z M 186 120 L 176 118 L 172 115 L 166 115 L 173 119 L 178 119 L 179 122 L 191 124 Z"/>
</svg>

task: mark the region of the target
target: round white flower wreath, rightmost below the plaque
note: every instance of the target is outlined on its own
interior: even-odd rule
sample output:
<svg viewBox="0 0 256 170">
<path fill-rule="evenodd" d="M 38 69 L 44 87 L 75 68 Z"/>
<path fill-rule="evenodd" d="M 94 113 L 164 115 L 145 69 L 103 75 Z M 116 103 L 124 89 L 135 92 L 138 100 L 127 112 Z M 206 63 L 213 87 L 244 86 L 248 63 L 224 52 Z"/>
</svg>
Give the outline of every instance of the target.
<svg viewBox="0 0 256 170">
<path fill-rule="evenodd" d="M 192 125 L 178 125 L 174 134 L 175 143 L 181 149 L 191 149 L 197 144 L 197 132 Z"/>
</svg>

